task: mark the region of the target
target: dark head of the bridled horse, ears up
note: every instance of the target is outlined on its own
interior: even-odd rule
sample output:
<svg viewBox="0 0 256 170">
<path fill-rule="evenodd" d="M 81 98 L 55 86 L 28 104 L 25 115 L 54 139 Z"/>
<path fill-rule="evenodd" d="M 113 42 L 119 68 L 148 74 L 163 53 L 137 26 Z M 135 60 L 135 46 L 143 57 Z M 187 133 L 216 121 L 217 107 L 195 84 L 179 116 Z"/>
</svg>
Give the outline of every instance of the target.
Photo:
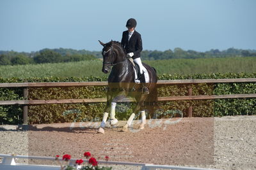
<svg viewBox="0 0 256 170">
<path fill-rule="evenodd" d="M 109 73 L 111 70 L 111 66 L 113 66 L 116 56 L 113 50 L 113 41 L 110 41 L 109 43 L 102 43 L 99 41 L 100 44 L 103 46 L 102 49 L 102 56 L 103 56 L 103 66 L 102 66 L 102 72 L 103 73 Z"/>
</svg>

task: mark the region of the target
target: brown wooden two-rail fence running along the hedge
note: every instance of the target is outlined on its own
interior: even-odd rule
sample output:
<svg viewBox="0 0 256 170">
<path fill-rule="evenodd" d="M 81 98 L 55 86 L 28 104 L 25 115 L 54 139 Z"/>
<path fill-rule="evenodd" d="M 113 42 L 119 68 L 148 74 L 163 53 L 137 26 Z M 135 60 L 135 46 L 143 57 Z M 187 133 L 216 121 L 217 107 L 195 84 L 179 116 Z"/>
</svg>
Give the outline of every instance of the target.
<svg viewBox="0 0 256 170">
<path fill-rule="evenodd" d="M 157 85 L 189 85 L 198 83 L 248 83 L 256 82 L 256 78 L 234 79 L 203 79 L 203 80 L 159 80 Z M 102 103 L 106 98 L 95 99 L 51 99 L 51 100 L 28 100 L 29 87 L 84 87 L 84 86 L 107 86 L 107 81 L 83 81 L 83 82 L 45 82 L 45 83 L 0 83 L 0 88 L 19 87 L 23 88 L 24 100 L 0 101 L 1 105 L 23 105 L 23 123 L 28 124 L 28 106 L 36 104 L 64 104 L 64 103 Z M 211 96 L 193 96 L 192 89 L 188 89 L 188 96 L 158 97 L 158 101 L 185 101 L 185 100 L 208 100 L 208 99 L 234 99 L 255 98 L 256 94 L 226 94 Z M 125 98 L 122 102 L 132 102 L 133 99 Z M 192 106 L 188 107 L 188 115 L 192 117 Z"/>
</svg>

